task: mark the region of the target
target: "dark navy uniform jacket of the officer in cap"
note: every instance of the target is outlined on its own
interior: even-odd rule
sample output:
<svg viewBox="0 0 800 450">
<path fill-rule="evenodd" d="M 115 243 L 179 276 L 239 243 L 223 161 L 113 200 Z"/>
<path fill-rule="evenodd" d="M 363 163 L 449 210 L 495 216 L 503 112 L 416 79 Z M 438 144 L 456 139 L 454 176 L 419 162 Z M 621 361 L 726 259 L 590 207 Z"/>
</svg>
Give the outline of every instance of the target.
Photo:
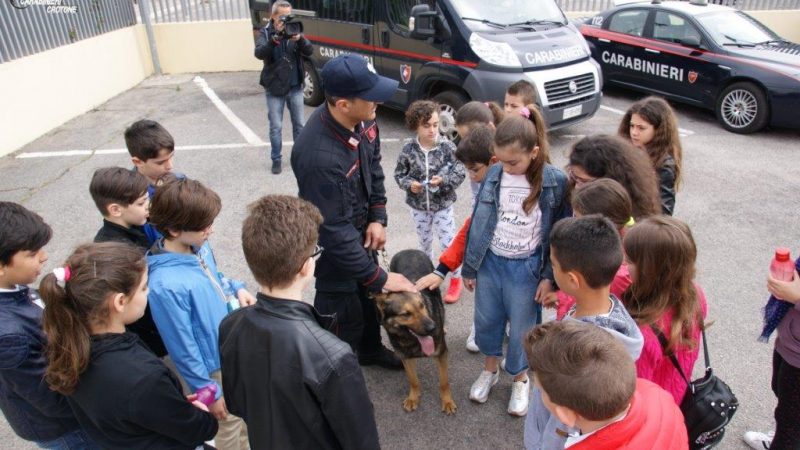
<svg viewBox="0 0 800 450">
<path fill-rule="evenodd" d="M 348 130 L 323 103 L 295 140 L 292 171 L 300 198 L 322 212 L 319 243 L 325 251 L 317 262 L 317 290 L 353 292 L 359 283 L 380 291 L 386 272 L 364 249 L 366 225 L 386 225 L 377 123 L 364 122 L 355 131 Z"/>
</svg>

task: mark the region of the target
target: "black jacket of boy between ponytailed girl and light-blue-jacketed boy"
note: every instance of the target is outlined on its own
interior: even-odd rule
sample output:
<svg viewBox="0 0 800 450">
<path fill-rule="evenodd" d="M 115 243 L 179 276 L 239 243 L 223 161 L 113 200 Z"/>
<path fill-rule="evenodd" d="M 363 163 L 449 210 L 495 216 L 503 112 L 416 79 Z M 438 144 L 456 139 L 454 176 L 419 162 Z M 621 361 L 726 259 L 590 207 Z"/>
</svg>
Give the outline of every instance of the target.
<svg viewBox="0 0 800 450">
<path fill-rule="evenodd" d="M 130 228 L 125 228 L 105 219 L 103 219 L 103 227 L 100 228 L 97 235 L 95 235 L 94 241 L 131 244 L 142 249 L 142 253 L 145 253 L 150 248 L 144 227 L 132 226 Z M 167 347 L 164 345 L 164 341 L 161 340 L 161 334 L 158 332 L 156 323 L 153 321 L 149 303 L 144 309 L 142 318 L 129 324 L 126 328 L 128 328 L 128 331 L 136 333 L 139 339 L 144 341 L 150 350 L 159 358 L 163 358 L 167 355 Z"/>
</svg>

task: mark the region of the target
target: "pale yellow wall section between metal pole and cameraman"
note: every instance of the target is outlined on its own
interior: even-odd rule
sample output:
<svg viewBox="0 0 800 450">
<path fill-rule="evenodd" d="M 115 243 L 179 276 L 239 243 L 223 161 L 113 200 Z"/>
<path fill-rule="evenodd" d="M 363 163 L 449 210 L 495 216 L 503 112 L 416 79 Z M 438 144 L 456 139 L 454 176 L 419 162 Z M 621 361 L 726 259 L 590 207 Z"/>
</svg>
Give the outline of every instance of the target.
<svg viewBox="0 0 800 450">
<path fill-rule="evenodd" d="M 261 70 L 253 56 L 250 21 L 163 23 L 153 25 L 164 73 Z"/>
</svg>

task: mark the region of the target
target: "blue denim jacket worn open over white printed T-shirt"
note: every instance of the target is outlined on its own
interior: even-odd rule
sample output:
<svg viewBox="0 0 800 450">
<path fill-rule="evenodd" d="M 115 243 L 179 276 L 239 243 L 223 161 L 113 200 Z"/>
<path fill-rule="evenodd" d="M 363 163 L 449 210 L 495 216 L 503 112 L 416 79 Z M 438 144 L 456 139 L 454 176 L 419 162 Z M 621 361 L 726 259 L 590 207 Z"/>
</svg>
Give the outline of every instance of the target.
<svg viewBox="0 0 800 450">
<path fill-rule="evenodd" d="M 472 211 L 472 223 L 467 233 L 467 249 L 461 276 L 476 278 L 483 257 L 489 251 L 494 229 L 497 226 L 497 211 L 500 203 L 500 179 L 502 164 L 495 164 L 486 173 Z M 542 247 L 539 279 L 553 280 L 553 267 L 550 264 L 550 230 L 553 224 L 572 215 L 566 200 L 567 176 L 555 166 L 545 164 L 542 172 L 542 192 L 539 194 L 539 209 L 542 211 L 542 228 L 539 245 Z"/>
</svg>

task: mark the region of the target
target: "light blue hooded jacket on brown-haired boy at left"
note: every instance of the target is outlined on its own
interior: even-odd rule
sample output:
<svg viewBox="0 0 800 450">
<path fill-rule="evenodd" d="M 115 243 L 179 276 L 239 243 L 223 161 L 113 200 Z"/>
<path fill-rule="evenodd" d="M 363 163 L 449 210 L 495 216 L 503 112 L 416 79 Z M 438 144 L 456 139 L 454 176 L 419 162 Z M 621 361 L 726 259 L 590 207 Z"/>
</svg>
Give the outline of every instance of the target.
<svg viewBox="0 0 800 450">
<path fill-rule="evenodd" d="M 147 301 L 170 357 L 192 392 L 216 384 L 211 373 L 220 369 L 219 324 L 228 314 L 227 296 L 244 283 L 228 280 L 206 241 L 195 254 L 164 250 L 163 239 L 147 253 Z M 217 384 L 217 395 L 222 386 Z"/>
</svg>

